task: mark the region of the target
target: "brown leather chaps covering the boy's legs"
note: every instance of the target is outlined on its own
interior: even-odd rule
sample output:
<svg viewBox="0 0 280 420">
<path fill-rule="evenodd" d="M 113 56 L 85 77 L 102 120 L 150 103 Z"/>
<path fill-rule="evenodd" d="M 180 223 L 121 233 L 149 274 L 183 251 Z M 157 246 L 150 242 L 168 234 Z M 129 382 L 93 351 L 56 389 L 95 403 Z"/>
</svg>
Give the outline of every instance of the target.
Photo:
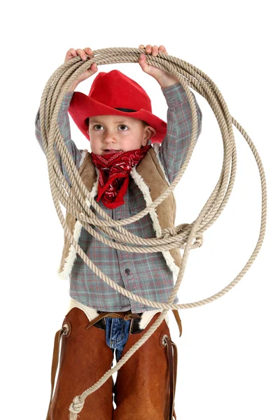
<svg viewBox="0 0 280 420">
<path fill-rule="evenodd" d="M 158 319 L 156 313 L 144 330 L 129 334 L 122 356 Z M 106 344 L 106 332 L 90 326 L 85 313 L 73 307 L 55 335 L 52 358 L 52 391 L 47 420 L 69 420 L 69 406 L 76 395 L 97 382 L 113 365 L 113 351 Z M 99 324 L 100 325 L 100 324 Z M 165 319 L 153 335 L 113 377 L 85 399 L 79 420 L 173 420 L 176 388 L 177 349 Z M 51 391 L 51 394 L 52 394 Z M 113 393 L 116 409 L 113 407 Z"/>
</svg>

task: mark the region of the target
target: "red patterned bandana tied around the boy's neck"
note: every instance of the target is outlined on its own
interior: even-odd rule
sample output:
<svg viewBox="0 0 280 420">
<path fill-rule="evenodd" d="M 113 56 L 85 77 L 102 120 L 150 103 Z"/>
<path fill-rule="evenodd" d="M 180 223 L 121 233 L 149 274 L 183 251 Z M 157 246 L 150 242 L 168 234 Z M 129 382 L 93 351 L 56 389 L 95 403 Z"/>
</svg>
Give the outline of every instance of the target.
<svg viewBox="0 0 280 420">
<path fill-rule="evenodd" d="M 92 162 L 99 169 L 97 202 L 102 198 L 104 206 L 116 209 L 125 202 L 123 196 L 127 192 L 132 167 L 137 165 L 146 155 L 151 144 L 134 151 L 92 154 Z"/>
</svg>

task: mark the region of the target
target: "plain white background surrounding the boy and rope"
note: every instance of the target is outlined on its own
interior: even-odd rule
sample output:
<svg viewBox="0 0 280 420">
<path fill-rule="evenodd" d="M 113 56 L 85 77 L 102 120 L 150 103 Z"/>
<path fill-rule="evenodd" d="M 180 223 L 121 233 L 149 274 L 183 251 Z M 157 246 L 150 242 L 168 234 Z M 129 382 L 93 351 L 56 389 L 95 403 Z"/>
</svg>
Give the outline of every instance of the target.
<svg viewBox="0 0 280 420">
<path fill-rule="evenodd" d="M 45 419 L 55 332 L 69 303 L 57 276 L 63 230 L 45 156 L 34 134 L 43 88 L 69 48 L 163 44 L 197 66 L 251 137 L 267 180 L 267 230 L 251 269 L 230 293 L 181 310 L 178 420 L 279 419 L 279 16 L 275 1 L 48 1 L 1 6 L 1 418 Z M 137 80 L 166 120 L 155 79 L 139 64 L 107 65 Z M 95 76 L 93 76 L 95 77 Z M 76 90 L 88 93 L 93 78 Z M 221 174 L 223 141 L 207 101 L 202 134 L 174 190 L 176 225 L 197 218 Z M 89 147 L 71 120 L 72 138 Z M 260 175 L 234 127 L 237 177 L 230 200 L 190 251 L 179 303 L 214 295 L 244 267 L 258 241 Z M 73 395 L 74 397 L 75 395 Z M 83 419 L 81 413 L 80 416 Z"/>
</svg>

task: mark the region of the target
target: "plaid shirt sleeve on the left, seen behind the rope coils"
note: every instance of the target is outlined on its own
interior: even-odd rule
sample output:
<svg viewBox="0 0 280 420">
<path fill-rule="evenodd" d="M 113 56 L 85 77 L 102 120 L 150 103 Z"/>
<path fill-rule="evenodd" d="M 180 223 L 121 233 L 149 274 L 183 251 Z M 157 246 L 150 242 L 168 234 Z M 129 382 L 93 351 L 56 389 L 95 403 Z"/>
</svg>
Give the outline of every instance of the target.
<svg viewBox="0 0 280 420">
<path fill-rule="evenodd" d="M 62 138 L 64 139 L 64 144 L 66 145 L 67 150 L 69 151 L 71 158 L 75 162 L 76 167 L 79 167 L 80 158 L 81 158 L 81 151 L 76 147 L 76 144 L 71 140 L 71 130 L 70 130 L 70 123 L 69 123 L 69 115 L 68 115 L 68 108 L 69 104 L 71 102 L 73 96 L 72 92 L 67 92 L 64 96 L 64 99 L 62 101 L 62 105 L 60 106 L 59 113 L 57 116 L 57 125 L 59 127 L 60 134 L 62 135 Z M 41 126 L 40 126 L 40 117 L 39 117 L 39 110 L 36 114 L 35 118 L 35 135 L 36 139 L 38 140 L 38 144 L 40 144 L 41 149 L 43 153 L 45 153 L 44 147 L 43 147 L 43 139 L 41 136 Z M 64 177 L 71 186 L 71 181 L 69 180 L 69 176 L 66 172 L 66 168 L 62 162 L 62 159 L 59 155 L 59 152 L 57 151 L 57 145 L 54 144 L 55 149 L 55 158 L 57 159 L 57 162 L 59 163 L 60 168 L 62 169 L 62 173 L 64 174 Z"/>
</svg>

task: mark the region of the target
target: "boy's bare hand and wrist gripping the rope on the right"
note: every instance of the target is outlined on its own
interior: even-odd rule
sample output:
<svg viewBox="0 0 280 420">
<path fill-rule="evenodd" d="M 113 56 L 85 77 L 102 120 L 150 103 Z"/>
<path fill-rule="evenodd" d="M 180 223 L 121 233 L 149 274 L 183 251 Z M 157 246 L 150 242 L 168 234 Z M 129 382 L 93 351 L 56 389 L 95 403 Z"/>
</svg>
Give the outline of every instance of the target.
<svg viewBox="0 0 280 420">
<path fill-rule="evenodd" d="M 158 47 L 157 45 L 153 45 L 152 47 L 152 45 L 148 44 L 146 45 L 146 48 L 144 47 L 144 45 L 139 45 L 139 48 L 144 49 L 146 54 L 152 54 L 154 56 L 158 55 L 158 52 L 162 52 L 168 55 L 168 52 L 165 49 L 164 45 L 160 45 L 160 47 Z M 172 74 L 167 73 L 167 71 L 164 71 L 162 69 L 158 69 L 158 67 L 151 66 L 151 64 L 148 64 L 146 62 L 146 55 L 143 53 L 140 54 L 139 64 L 141 66 L 141 69 L 145 71 L 145 73 L 149 74 L 150 76 L 155 78 L 155 80 L 157 80 L 158 83 L 160 83 L 161 87 L 169 87 L 175 85 L 175 83 L 179 83 L 179 80 L 177 80 L 175 76 L 172 76 Z"/>
</svg>

